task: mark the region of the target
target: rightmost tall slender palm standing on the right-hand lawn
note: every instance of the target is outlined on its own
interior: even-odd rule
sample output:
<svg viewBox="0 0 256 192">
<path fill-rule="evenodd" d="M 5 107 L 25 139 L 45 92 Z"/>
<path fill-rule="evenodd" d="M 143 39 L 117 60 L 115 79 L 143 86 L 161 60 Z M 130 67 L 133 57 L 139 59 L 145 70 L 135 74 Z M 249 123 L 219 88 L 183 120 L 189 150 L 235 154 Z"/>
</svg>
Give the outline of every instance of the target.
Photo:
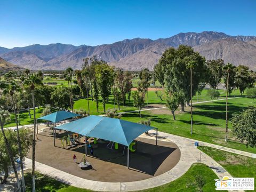
<svg viewBox="0 0 256 192">
<path fill-rule="evenodd" d="M 226 84 L 226 136 L 225 141 L 228 142 L 228 92 L 229 95 L 233 90 L 232 86 L 234 85 L 234 77 L 235 77 L 235 66 L 231 63 L 228 63 L 223 67 L 225 71 L 225 84 Z M 230 85 L 231 84 L 231 85 Z"/>
</svg>

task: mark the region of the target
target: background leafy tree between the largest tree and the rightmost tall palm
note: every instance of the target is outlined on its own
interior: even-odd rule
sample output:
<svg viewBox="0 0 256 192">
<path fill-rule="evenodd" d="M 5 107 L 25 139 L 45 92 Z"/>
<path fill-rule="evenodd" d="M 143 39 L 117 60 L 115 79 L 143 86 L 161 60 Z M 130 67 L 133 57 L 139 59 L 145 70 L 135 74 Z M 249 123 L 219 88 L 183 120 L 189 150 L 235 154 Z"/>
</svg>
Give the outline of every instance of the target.
<svg viewBox="0 0 256 192">
<path fill-rule="evenodd" d="M 217 89 L 223 76 L 223 67 L 225 63 L 222 59 L 207 60 L 207 83 L 210 84 L 212 89 Z"/>
</svg>

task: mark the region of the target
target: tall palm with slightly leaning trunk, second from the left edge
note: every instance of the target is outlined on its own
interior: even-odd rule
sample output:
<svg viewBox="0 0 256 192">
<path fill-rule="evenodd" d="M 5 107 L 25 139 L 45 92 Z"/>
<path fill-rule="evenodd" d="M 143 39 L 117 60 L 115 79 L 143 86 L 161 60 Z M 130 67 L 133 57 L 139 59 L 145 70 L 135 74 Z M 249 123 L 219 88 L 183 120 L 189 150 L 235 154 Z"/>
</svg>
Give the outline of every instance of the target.
<svg viewBox="0 0 256 192">
<path fill-rule="evenodd" d="M 25 191 L 25 179 L 24 179 L 24 170 L 23 170 L 23 154 L 21 149 L 21 140 L 20 140 L 20 132 L 19 132 L 19 124 L 18 124 L 18 117 L 17 117 L 17 102 L 15 99 L 15 93 L 20 91 L 20 86 L 13 81 L 12 79 L 9 80 L 9 82 L 6 84 L 3 94 L 10 95 L 12 106 L 13 106 L 13 112 L 15 116 L 15 123 L 16 123 L 16 129 L 17 129 L 17 139 L 18 139 L 18 148 L 19 148 L 19 154 L 20 154 L 20 168 L 21 168 L 21 177 L 22 177 L 22 190 Z"/>
</svg>

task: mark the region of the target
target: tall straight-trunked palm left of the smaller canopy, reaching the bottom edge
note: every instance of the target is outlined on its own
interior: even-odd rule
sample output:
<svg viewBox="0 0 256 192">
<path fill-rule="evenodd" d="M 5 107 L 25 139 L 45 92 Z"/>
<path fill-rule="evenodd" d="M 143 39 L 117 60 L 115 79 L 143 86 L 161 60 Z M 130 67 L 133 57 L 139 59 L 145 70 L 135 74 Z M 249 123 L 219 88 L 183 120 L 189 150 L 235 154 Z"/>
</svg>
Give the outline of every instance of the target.
<svg viewBox="0 0 256 192">
<path fill-rule="evenodd" d="M 33 132 L 33 144 L 32 144 L 32 191 L 36 191 L 35 186 L 35 151 L 36 151 L 36 108 L 35 108 L 35 86 L 42 85 L 42 79 L 35 74 L 30 74 L 24 80 L 23 85 L 28 87 L 32 95 L 33 109 L 34 109 L 34 132 Z"/>
</svg>

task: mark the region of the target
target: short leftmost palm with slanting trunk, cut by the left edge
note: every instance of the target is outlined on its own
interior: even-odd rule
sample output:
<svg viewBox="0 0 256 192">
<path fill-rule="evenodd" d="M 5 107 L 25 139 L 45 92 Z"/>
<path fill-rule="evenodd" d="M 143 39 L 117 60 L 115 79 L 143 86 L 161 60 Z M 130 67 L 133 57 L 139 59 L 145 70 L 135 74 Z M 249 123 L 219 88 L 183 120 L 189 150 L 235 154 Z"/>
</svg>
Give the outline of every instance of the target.
<svg viewBox="0 0 256 192">
<path fill-rule="evenodd" d="M 7 177 L 9 176 L 8 166 L 9 166 L 9 162 L 11 162 L 13 171 L 15 173 L 15 177 L 17 180 L 18 190 L 21 191 L 19 176 L 18 176 L 18 172 L 17 172 L 15 162 L 14 162 L 14 154 L 12 153 L 10 142 L 8 141 L 8 139 L 5 135 L 5 131 L 4 131 L 4 125 L 9 119 L 10 119 L 9 112 L 1 110 L 0 111 L 0 126 L 1 126 L 2 134 L 0 134 L 0 138 L 1 138 L 0 139 L 0 148 L 1 148 L 1 150 L 0 150 L 0 159 L 1 159 L 0 170 L 3 170 L 5 173 L 1 184 L 6 183 L 6 181 L 7 181 Z M 2 141 L 4 141 L 4 145 L 3 145 Z M 4 151 L 6 151 L 6 153 L 4 153 Z M 10 160 L 9 160 L 9 158 L 10 158 Z"/>
</svg>

